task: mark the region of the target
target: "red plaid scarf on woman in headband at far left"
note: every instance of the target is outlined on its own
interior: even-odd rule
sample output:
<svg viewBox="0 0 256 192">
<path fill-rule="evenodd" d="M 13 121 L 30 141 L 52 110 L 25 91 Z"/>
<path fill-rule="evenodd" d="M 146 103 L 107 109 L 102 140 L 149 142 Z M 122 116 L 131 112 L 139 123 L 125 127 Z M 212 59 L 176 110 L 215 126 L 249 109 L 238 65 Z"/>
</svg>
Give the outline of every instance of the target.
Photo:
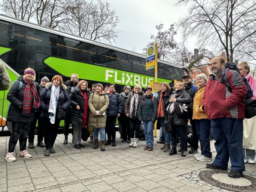
<svg viewBox="0 0 256 192">
<path fill-rule="evenodd" d="M 38 109 L 40 105 L 39 95 L 35 88 L 34 82 L 26 81 L 26 86 L 24 89 L 23 95 L 23 108 L 22 114 L 30 114 L 31 113 L 31 105 L 32 105 L 32 97 L 33 97 L 33 108 Z M 31 94 L 32 91 L 32 94 Z"/>
</svg>

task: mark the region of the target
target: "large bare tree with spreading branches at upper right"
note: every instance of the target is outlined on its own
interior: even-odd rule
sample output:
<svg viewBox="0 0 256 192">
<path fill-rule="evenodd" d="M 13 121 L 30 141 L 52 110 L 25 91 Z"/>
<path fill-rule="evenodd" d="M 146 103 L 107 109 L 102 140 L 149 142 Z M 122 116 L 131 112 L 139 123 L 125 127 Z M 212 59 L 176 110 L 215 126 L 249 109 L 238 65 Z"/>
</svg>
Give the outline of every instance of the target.
<svg viewBox="0 0 256 192">
<path fill-rule="evenodd" d="M 246 52 L 249 39 L 255 42 L 255 0 L 178 0 L 177 5 L 182 4 L 190 6 L 188 15 L 179 21 L 184 40 L 197 35 L 200 47 L 224 50 L 228 61 Z M 255 49 L 250 54 L 255 57 Z"/>
</svg>

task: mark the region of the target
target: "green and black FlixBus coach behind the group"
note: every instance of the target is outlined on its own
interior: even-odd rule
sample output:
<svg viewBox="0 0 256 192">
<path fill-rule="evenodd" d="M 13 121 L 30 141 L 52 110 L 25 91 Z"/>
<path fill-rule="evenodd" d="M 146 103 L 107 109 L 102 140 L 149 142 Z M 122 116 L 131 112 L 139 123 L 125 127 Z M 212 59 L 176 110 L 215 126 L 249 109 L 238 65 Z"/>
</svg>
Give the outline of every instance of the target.
<svg viewBox="0 0 256 192">
<path fill-rule="evenodd" d="M 122 92 L 125 85 L 146 87 L 154 81 L 154 69 L 145 70 L 145 55 L 3 14 L 0 14 L 0 59 L 12 82 L 28 67 L 35 70 L 37 82 L 44 76 L 51 80 L 56 74 L 66 81 L 76 73 L 89 85 L 115 83 L 117 92 Z M 185 71 L 188 69 L 184 66 L 158 60 L 157 81 L 171 84 L 182 80 Z M 8 90 L 0 92 L 0 127 L 6 125 L 7 93 Z"/>
</svg>

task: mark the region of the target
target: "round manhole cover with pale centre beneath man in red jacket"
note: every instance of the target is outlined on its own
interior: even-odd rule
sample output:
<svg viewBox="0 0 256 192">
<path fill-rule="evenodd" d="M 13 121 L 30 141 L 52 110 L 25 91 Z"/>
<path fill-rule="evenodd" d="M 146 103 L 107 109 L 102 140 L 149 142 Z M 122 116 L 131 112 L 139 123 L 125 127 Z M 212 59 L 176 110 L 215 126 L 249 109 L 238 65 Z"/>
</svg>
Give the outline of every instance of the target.
<svg viewBox="0 0 256 192">
<path fill-rule="evenodd" d="M 222 189 L 237 192 L 256 191 L 256 178 L 243 175 L 242 178 L 230 178 L 224 170 L 204 170 L 199 173 L 199 178 L 207 183 Z"/>
</svg>

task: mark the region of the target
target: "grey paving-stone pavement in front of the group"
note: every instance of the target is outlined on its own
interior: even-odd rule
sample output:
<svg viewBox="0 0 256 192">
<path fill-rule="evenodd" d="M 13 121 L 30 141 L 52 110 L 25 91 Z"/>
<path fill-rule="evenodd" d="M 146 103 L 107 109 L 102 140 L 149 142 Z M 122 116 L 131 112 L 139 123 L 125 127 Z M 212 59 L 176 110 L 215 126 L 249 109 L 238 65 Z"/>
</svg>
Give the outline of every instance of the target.
<svg viewBox="0 0 256 192">
<path fill-rule="evenodd" d="M 197 161 L 194 154 L 181 157 L 178 152 L 170 156 L 160 150 L 162 144 L 157 144 L 156 139 L 154 151 L 143 150 L 145 141 L 140 140 L 138 147 L 133 148 L 117 139 L 116 147 L 106 146 L 106 151 L 102 152 L 86 141 L 82 142 L 85 148 L 74 148 L 71 135 L 69 143 L 63 145 L 64 135 L 61 134 L 54 145 L 56 153 L 50 157 L 44 156 L 45 148 L 35 146 L 35 149 L 28 149 L 31 159 L 17 157 L 17 161 L 7 162 L 4 157 L 9 137 L 0 137 L 0 191 L 228 191 L 200 180 L 198 174 L 206 169 L 205 162 Z M 214 141 L 211 141 L 211 150 L 214 157 Z M 256 177 L 256 165 L 247 163 L 245 166 L 244 174 Z"/>
</svg>

